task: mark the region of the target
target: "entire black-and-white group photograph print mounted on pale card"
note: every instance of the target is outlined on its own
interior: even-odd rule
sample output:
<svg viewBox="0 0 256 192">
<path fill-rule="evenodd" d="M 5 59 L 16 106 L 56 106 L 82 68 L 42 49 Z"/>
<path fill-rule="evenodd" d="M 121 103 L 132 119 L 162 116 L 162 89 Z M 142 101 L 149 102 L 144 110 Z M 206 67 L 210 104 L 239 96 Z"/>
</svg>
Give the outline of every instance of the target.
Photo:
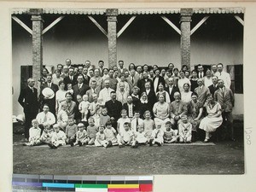
<svg viewBox="0 0 256 192">
<path fill-rule="evenodd" d="M 10 12 L 14 173 L 245 173 L 245 8 Z"/>
</svg>

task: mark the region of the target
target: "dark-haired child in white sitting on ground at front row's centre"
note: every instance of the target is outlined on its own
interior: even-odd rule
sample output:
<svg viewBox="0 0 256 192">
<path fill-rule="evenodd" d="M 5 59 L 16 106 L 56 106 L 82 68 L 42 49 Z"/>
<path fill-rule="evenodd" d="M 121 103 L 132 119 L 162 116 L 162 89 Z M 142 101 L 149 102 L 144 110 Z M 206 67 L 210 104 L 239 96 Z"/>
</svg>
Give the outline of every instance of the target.
<svg viewBox="0 0 256 192">
<path fill-rule="evenodd" d="M 125 122 L 124 131 L 121 131 L 117 135 L 119 148 L 123 148 L 124 145 L 131 145 L 132 138 L 133 138 L 133 133 L 130 130 L 130 123 Z"/>
</svg>

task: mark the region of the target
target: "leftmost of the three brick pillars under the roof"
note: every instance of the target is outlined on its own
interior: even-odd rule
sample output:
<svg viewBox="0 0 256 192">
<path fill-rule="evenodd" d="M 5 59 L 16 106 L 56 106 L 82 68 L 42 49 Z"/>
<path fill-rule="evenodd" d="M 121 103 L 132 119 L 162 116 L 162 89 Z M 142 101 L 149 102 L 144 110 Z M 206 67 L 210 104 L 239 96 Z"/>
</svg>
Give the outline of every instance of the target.
<svg viewBox="0 0 256 192">
<path fill-rule="evenodd" d="M 30 9 L 32 15 L 32 79 L 35 79 L 35 87 L 41 77 L 43 67 L 43 9 Z M 39 92 L 39 91 L 38 91 Z"/>
</svg>

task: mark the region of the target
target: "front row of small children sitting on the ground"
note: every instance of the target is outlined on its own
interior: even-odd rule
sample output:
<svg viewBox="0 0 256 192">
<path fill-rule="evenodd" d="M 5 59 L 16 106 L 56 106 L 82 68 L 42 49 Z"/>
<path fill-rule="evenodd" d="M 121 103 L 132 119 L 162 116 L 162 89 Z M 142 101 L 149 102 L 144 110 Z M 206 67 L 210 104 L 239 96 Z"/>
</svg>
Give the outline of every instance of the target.
<svg viewBox="0 0 256 192">
<path fill-rule="evenodd" d="M 110 120 L 107 121 L 106 125 L 97 127 L 92 117 L 88 119 L 87 129 L 83 123 L 76 125 L 73 119 L 68 119 L 65 132 L 61 130 L 61 126 L 58 124 L 53 125 L 53 128 L 49 124 L 44 124 L 42 131 L 38 126 L 38 120 L 33 119 L 32 128 L 29 130 L 29 143 L 24 145 L 48 144 L 50 148 L 58 148 L 66 144 L 70 144 L 72 147 L 75 145 L 95 145 L 105 148 L 119 145 L 119 148 L 125 146 L 137 148 L 138 145 L 147 143 L 149 146 L 154 144 L 161 146 L 163 143 L 191 143 L 192 125 L 188 122 L 186 115 L 182 116 L 178 130 L 172 130 L 170 121 L 166 122 L 165 130 L 161 128 L 161 125 L 156 125 L 154 129 L 153 126 L 147 124 L 147 112 L 145 116 L 145 124 L 137 125 L 134 129 L 131 127 L 132 121 L 131 123 L 124 122 L 122 129 L 119 129 L 118 126 L 118 131 L 113 128 Z"/>
</svg>

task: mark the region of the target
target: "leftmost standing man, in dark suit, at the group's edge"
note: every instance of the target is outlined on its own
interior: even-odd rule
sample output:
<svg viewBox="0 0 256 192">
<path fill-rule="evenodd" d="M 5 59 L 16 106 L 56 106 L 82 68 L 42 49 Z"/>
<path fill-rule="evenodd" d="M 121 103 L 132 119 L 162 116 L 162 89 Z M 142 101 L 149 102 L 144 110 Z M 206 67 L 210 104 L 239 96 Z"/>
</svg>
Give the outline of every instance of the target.
<svg viewBox="0 0 256 192">
<path fill-rule="evenodd" d="M 29 129 L 32 119 L 35 119 L 38 114 L 38 90 L 34 88 L 35 80 L 27 79 L 27 86 L 20 90 L 18 102 L 22 106 L 25 113 L 25 139 L 28 141 Z M 26 142 L 27 142 L 26 141 Z"/>
</svg>

